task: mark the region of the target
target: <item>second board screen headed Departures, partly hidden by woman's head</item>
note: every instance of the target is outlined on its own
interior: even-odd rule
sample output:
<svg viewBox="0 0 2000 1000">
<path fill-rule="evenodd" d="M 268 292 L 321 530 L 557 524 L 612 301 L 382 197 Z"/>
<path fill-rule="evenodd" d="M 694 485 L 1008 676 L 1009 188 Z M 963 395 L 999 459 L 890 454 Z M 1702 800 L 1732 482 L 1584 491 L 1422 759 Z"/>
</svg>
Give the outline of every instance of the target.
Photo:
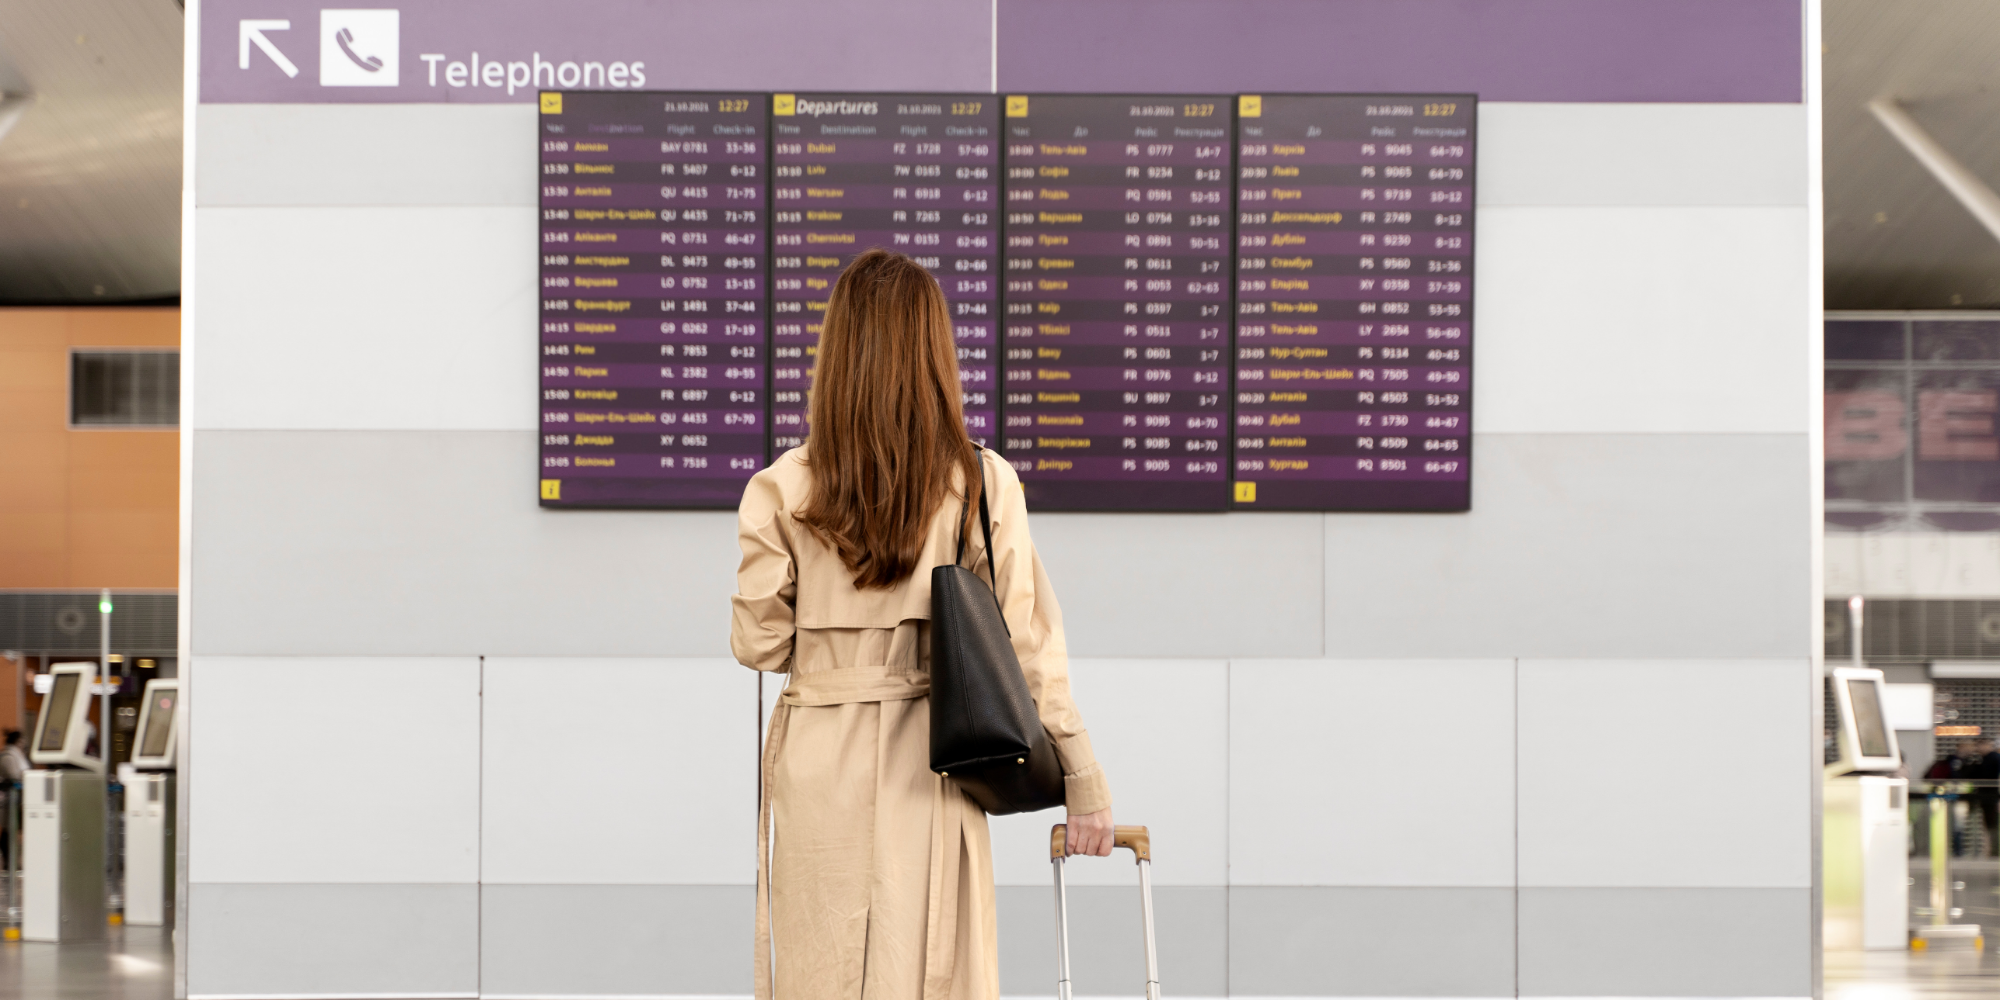
<svg viewBox="0 0 2000 1000">
<path fill-rule="evenodd" d="M 772 94 L 772 454 L 806 436 L 820 320 L 870 248 L 944 290 L 966 432 L 998 446 L 1000 106 L 992 94 Z"/>
</svg>

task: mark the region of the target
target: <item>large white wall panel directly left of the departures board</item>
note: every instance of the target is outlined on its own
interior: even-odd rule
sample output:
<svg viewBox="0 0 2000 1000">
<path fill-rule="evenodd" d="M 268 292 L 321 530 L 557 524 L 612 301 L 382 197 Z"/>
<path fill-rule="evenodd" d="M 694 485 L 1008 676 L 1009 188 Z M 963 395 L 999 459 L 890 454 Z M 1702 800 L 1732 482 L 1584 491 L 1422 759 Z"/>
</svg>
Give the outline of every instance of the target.
<svg viewBox="0 0 2000 1000">
<path fill-rule="evenodd" d="M 534 430 L 534 208 L 196 216 L 196 428 Z"/>
</svg>

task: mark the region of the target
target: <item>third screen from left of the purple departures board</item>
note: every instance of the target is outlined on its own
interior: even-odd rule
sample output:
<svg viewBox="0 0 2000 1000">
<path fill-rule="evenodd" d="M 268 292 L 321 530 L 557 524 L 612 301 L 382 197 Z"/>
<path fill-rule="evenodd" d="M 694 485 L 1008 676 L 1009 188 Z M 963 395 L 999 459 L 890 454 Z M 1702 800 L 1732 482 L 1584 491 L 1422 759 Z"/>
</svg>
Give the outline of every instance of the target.
<svg viewBox="0 0 2000 1000">
<path fill-rule="evenodd" d="M 1006 98 L 1006 430 L 1038 510 L 1230 504 L 1230 96 Z"/>
</svg>

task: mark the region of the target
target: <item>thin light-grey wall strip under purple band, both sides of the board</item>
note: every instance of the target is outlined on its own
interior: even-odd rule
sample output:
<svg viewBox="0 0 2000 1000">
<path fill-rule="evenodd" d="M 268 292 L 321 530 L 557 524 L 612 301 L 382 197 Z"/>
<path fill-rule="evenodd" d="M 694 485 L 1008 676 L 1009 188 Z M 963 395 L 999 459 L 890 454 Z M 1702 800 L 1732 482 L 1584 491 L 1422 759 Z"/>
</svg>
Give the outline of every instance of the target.
<svg viewBox="0 0 2000 1000">
<path fill-rule="evenodd" d="M 196 204 L 536 204 L 534 104 L 202 104 Z M 1480 206 L 1804 204 L 1798 104 L 1480 104 Z"/>
</svg>

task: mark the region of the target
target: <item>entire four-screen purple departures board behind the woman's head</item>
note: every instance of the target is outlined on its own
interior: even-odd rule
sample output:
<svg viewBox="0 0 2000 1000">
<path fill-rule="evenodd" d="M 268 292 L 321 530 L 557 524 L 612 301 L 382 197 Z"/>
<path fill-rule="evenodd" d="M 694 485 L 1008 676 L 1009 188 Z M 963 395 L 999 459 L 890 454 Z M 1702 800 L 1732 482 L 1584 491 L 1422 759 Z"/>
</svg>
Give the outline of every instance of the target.
<svg viewBox="0 0 2000 1000">
<path fill-rule="evenodd" d="M 736 506 L 884 248 L 1036 510 L 1470 508 L 1474 96 L 540 108 L 544 506 Z"/>
</svg>

